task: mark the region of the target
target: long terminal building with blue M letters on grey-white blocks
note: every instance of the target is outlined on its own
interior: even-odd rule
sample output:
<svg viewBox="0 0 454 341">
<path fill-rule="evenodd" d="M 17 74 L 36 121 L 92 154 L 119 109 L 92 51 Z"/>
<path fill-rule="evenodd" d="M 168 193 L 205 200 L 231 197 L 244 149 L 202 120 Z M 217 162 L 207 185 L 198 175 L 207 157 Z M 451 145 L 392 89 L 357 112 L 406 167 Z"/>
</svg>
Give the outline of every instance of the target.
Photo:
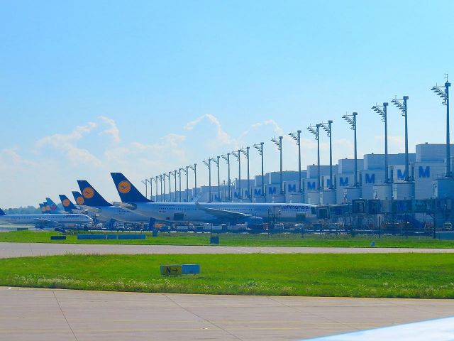
<svg viewBox="0 0 454 341">
<path fill-rule="evenodd" d="M 370 153 L 355 161 L 350 158 L 338 160 L 330 167 L 309 165 L 301 171 L 283 171 L 255 175 L 253 178 L 235 179 L 230 186 L 226 181 L 211 185 L 213 202 L 304 202 L 315 205 L 345 205 L 353 200 L 380 200 L 382 206 L 392 207 L 395 202 L 441 200 L 450 210 L 454 198 L 454 180 L 446 177 L 445 144 L 418 144 L 416 153 L 409 153 L 409 174 L 406 174 L 405 154 L 389 154 L 385 170 L 384 154 Z M 454 145 L 450 146 L 450 154 Z M 453 158 L 448 162 L 453 169 Z M 408 180 L 406 180 L 408 178 Z M 332 182 L 332 183 L 331 183 Z M 210 201 L 209 186 L 190 188 L 167 195 L 153 196 L 155 201 Z M 409 204 L 408 204 L 409 205 Z M 394 207 L 393 206 L 393 207 Z"/>
</svg>

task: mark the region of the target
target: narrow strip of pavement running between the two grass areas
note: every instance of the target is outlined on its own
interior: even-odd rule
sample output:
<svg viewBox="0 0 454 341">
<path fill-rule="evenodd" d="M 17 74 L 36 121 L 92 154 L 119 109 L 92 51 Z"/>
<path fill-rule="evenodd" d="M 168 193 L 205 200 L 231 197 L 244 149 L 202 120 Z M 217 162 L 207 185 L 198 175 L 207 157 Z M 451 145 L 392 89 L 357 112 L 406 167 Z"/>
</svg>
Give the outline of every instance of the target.
<svg viewBox="0 0 454 341">
<path fill-rule="evenodd" d="M 454 253 L 454 249 L 376 247 L 222 247 L 184 245 L 0 243 L 0 258 L 55 254 L 384 254 Z"/>
</svg>

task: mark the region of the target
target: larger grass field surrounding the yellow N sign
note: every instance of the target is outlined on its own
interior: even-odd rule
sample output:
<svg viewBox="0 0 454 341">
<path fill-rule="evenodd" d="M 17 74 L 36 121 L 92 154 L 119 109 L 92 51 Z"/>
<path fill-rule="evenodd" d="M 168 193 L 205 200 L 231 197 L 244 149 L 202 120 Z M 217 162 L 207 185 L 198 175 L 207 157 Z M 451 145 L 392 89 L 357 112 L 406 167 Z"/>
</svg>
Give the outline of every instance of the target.
<svg viewBox="0 0 454 341">
<path fill-rule="evenodd" d="M 164 277 L 160 264 L 201 264 Z M 279 296 L 454 298 L 454 254 L 65 255 L 0 259 L 0 286 Z"/>
</svg>

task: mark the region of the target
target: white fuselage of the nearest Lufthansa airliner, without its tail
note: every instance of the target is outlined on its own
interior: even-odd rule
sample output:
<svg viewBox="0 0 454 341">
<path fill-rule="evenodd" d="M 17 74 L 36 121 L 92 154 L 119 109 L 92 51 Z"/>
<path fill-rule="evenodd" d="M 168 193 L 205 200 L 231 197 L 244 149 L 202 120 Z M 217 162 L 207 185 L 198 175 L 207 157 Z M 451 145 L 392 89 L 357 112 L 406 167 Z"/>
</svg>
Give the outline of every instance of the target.
<svg viewBox="0 0 454 341">
<path fill-rule="evenodd" d="M 286 203 L 235 203 L 235 202 L 136 202 L 133 212 L 156 220 L 192 221 L 192 222 L 228 222 L 228 218 L 221 218 L 204 210 L 224 210 L 238 212 L 244 215 L 260 217 L 264 221 L 279 220 L 294 222 L 299 214 L 306 218 L 316 217 L 316 205 L 286 204 Z M 177 219 L 176 219 L 177 217 Z"/>
</svg>

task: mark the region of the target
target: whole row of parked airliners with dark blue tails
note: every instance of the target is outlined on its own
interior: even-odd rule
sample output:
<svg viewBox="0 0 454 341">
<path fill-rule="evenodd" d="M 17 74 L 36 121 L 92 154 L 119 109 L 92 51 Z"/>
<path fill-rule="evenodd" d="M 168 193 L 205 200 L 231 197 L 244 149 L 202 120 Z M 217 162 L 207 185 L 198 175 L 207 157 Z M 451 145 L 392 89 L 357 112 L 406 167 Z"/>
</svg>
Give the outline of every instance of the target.
<svg viewBox="0 0 454 341">
<path fill-rule="evenodd" d="M 64 219 L 62 216 L 83 216 L 76 223 L 92 221 L 87 215 L 104 221 L 120 221 L 131 223 L 160 222 L 209 222 L 228 223 L 258 226 L 264 222 L 302 222 L 316 218 L 316 205 L 285 204 L 285 203 L 253 203 L 253 202 L 153 202 L 142 195 L 140 191 L 122 174 L 111 173 L 112 179 L 121 198 L 121 202 L 108 202 L 87 180 L 77 180 L 80 193 L 73 191 L 75 205 L 66 197 L 60 195 L 65 209 L 65 215 L 50 214 L 43 217 L 30 217 L 28 220 L 36 222 L 57 222 Z M 46 198 L 47 202 L 52 202 Z M 1 213 L 0 213 L 1 214 Z M 11 215 L 12 216 L 12 215 Z M 9 219 L 9 222 L 19 222 L 19 218 Z M 22 215 L 28 216 L 28 215 Z M 3 219 L 1 217 L 4 217 Z M 0 216 L 6 221 L 9 215 Z M 87 220 L 88 218 L 88 220 Z M 27 217 L 23 217 L 23 222 Z M 69 218 L 67 218 L 69 219 Z"/>
</svg>

